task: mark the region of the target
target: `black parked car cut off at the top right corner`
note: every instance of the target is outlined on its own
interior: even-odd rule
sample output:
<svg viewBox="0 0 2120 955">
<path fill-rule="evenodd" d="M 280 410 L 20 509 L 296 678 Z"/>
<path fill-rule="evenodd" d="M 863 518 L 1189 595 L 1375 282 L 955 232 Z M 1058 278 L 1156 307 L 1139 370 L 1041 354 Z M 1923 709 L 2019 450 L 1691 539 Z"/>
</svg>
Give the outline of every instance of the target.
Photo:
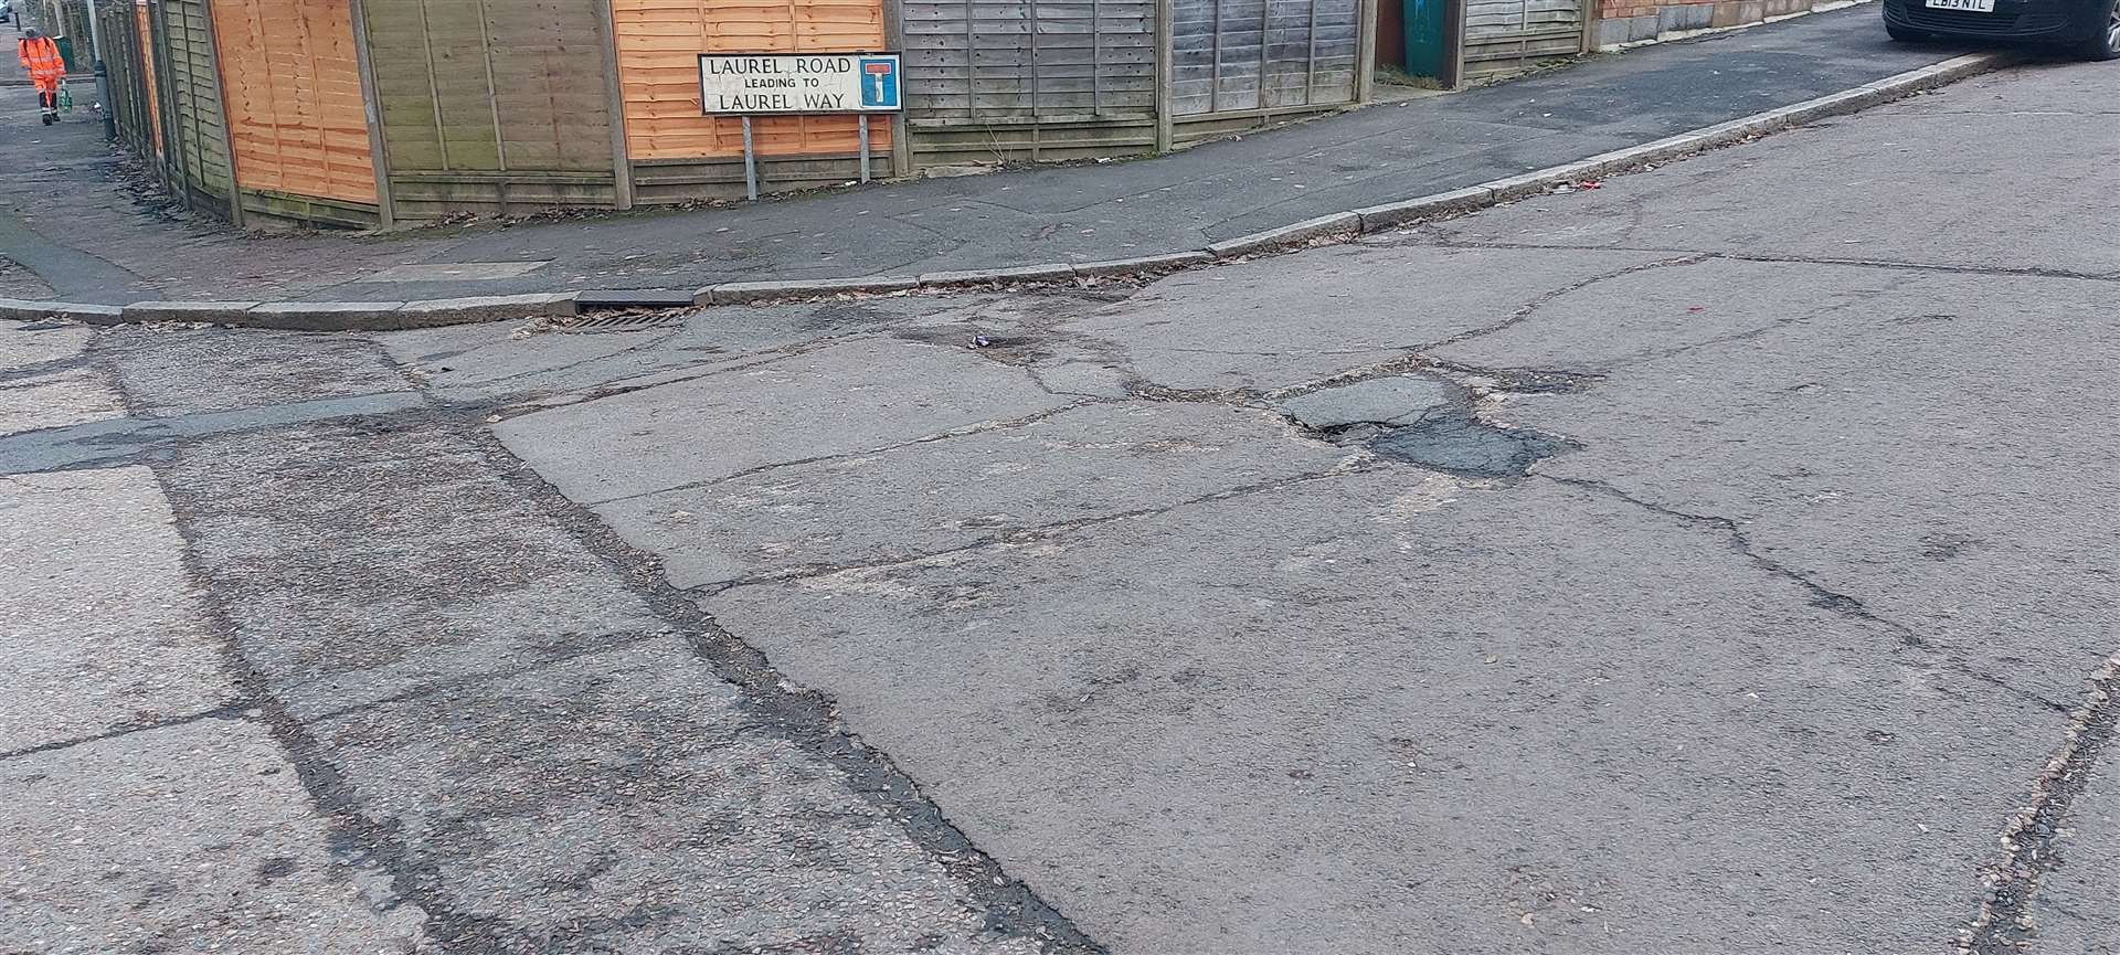
<svg viewBox="0 0 2120 955">
<path fill-rule="evenodd" d="M 2116 0 L 1885 0 L 1885 32 L 2061 44 L 2084 59 L 2120 57 Z"/>
</svg>

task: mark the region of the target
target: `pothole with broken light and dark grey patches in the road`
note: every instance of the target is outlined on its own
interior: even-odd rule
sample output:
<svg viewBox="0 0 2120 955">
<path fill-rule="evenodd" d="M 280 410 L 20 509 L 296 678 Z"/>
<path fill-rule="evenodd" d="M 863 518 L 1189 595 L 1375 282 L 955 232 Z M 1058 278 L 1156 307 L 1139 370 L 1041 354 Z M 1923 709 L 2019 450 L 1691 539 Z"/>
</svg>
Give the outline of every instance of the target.
<svg viewBox="0 0 2120 955">
<path fill-rule="evenodd" d="M 1274 409 L 1331 440 L 1459 476 L 1524 476 L 1533 464 L 1575 449 L 1545 432 L 1482 421 L 1465 388 L 1418 375 L 1321 388 Z"/>
</svg>

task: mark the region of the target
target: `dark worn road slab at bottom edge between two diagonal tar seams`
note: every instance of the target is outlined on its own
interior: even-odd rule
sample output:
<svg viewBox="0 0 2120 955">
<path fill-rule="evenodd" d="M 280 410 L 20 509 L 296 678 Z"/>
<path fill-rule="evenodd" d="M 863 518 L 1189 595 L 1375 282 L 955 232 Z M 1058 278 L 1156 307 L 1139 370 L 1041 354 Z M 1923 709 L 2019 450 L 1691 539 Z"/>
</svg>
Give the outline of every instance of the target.
<svg viewBox="0 0 2120 955">
<path fill-rule="evenodd" d="M 880 807 L 655 639 L 316 724 L 424 891 L 515 951 L 1030 955 Z"/>
</svg>

